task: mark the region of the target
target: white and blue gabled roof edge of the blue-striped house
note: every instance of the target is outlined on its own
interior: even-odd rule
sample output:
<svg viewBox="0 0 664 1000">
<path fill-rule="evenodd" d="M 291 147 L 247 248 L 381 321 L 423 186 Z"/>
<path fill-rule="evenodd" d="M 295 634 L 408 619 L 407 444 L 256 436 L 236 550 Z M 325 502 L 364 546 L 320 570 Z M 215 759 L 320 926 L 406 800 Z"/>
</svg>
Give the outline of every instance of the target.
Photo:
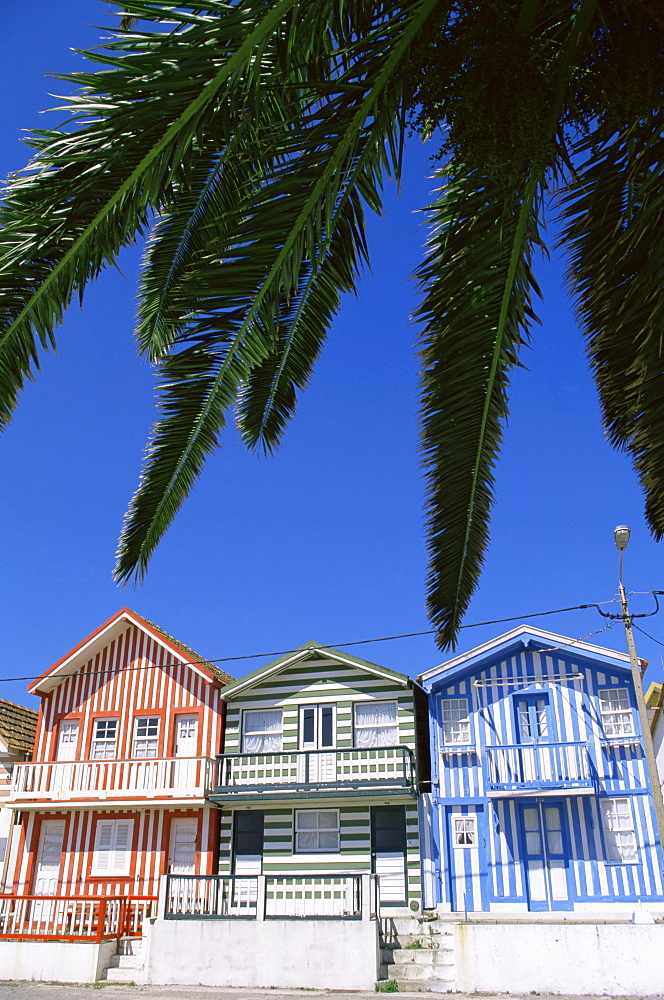
<svg viewBox="0 0 664 1000">
<path fill-rule="evenodd" d="M 511 656 L 522 649 L 542 651 L 550 649 L 552 652 L 560 651 L 561 655 L 567 655 L 574 661 L 594 661 L 610 666 L 614 670 L 630 669 L 629 656 L 626 653 L 616 653 L 603 646 L 595 646 L 581 639 L 570 639 L 568 636 L 546 632 L 530 625 L 519 625 L 496 639 L 476 646 L 475 649 L 441 663 L 438 667 L 426 670 L 417 680 L 426 690 L 430 690 L 438 683 L 447 683 L 451 677 L 480 670 L 485 664 Z"/>
</svg>

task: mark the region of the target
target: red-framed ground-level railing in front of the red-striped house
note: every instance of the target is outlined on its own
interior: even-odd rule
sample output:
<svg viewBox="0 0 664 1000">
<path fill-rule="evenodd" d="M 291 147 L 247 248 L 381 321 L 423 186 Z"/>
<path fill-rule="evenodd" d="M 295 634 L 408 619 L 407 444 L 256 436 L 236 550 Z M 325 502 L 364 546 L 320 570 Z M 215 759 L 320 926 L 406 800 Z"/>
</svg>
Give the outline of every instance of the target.
<svg viewBox="0 0 664 1000">
<path fill-rule="evenodd" d="M 157 898 L 0 896 L 0 940 L 106 941 L 140 937 Z"/>
</svg>

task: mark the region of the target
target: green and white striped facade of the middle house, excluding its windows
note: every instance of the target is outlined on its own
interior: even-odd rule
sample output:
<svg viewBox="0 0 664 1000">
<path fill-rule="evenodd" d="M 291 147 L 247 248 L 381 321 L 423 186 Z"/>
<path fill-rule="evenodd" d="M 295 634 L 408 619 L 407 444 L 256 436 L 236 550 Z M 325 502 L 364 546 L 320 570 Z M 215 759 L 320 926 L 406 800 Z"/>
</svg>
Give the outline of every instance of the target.
<svg viewBox="0 0 664 1000">
<path fill-rule="evenodd" d="M 421 693 L 421 692 L 420 692 Z M 262 858 L 254 873 L 264 874 L 359 874 L 372 870 L 380 874 L 380 857 L 376 861 L 376 810 L 392 810 L 390 816 L 403 817 L 403 856 L 400 885 L 387 900 L 389 905 L 407 906 L 421 899 L 419 832 L 417 814 L 417 775 L 415 766 L 416 722 L 413 683 L 407 677 L 375 664 L 309 644 L 294 655 L 287 656 L 229 685 L 222 691 L 227 701 L 225 753 L 228 783 L 215 790 L 212 799 L 222 810 L 220 872 L 233 874 L 247 871 L 238 861 L 236 828 L 247 822 L 243 815 L 260 810 L 263 822 Z M 358 709 L 358 705 L 366 706 Z M 358 749 L 358 717 L 370 717 L 377 712 L 394 717 L 390 730 L 390 747 L 382 745 Z M 329 710 L 330 735 L 324 745 L 306 754 L 303 727 L 306 715 L 313 718 L 321 707 Z M 280 720 L 279 750 L 252 754 L 247 750 L 247 719 L 256 713 L 278 712 Z M 423 720 L 424 721 L 424 720 Z M 424 724 L 425 721 L 424 721 Z M 315 742 L 315 740 L 314 740 Z M 396 749 L 392 749 L 396 748 Z M 310 772 L 304 773 L 304 757 L 310 757 Z M 385 758 L 388 757 L 387 770 Z M 390 783 L 392 758 L 408 762 L 408 781 Z M 258 767 L 260 777 L 247 777 L 242 772 Z M 292 774 L 286 773 L 286 767 Z M 335 770 L 336 768 L 336 770 Z M 232 778 L 237 770 L 237 779 Z M 354 780 L 358 778 L 359 780 Z M 249 782 L 249 783 L 248 783 Z M 252 782 L 255 782 L 252 784 Z M 284 787 L 284 783 L 287 787 Z M 338 817 L 338 837 L 331 833 L 333 849 L 321 848 L 309 853 L 298 845 L 298 815 Z M 313 819 L 311 819 L 313 822 Z M 396 845 L 393 845 L 396 846 Z M 380 852 L 378 852 L 380 855 Z M 398 851 L 386 852 L 396 856 Z M 383 862 L 387 863 L 387 862 Z M 376 867 L 378 866 L 378 868 Z M 387 885 L 390 875 L 386 874 Z M 382 878 L 382 875 L 381 875 Z M 394 880 L 393 880 L 394 881 Z M 394 885 L 392 889 L 394 890 Z M 389 894 L 384 892 L 385 897 Z M 399 896 L 397 899 L 396 896 Z"/>
</svg>

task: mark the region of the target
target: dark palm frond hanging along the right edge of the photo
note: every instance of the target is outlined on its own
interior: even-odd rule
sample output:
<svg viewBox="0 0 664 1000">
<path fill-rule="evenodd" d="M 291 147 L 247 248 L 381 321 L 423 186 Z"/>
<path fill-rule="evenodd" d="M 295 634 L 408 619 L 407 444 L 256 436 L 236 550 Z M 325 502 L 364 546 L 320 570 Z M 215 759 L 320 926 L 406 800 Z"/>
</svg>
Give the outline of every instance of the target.
<svg viewBox="0 0 664 1000">
<path fill-rule="evenodd" d="M 628 452 L 664 538 L 664 136 L 661 116 L 575 150 L 561 243 L 609 441 Z"/>
</svg>

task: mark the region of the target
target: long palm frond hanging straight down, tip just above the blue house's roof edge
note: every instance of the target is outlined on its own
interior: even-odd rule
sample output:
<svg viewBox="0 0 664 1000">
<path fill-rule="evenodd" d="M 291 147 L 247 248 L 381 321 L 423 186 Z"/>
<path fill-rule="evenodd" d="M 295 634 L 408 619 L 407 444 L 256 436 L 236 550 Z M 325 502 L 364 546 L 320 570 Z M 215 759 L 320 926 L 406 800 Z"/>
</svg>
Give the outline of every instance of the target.
<svg viewBox="0 0 664 1000">
<path fill-rule="evenodd" d="M 502 190 L 479 171 L 443 172 L 434 233 L 418 276 L 423 324 L 422 452 L 427 479 L 428 607 L 454 643 L 489 537 L 493 470 L 508 413 L 510 370 L 536 319 L 532 273 L 543 186 Z"/>
</svg>

